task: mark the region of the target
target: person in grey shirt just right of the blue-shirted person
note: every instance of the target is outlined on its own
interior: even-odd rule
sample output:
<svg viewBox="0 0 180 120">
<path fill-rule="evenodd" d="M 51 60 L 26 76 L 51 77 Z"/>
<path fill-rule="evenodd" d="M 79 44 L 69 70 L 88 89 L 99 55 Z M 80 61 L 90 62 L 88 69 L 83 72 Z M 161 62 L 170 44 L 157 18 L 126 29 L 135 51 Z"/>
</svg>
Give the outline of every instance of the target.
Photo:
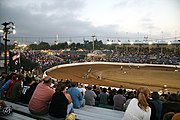
<svg viewBox="0 0 180 120">
<path fill-rule="evenodd" d="M 92 91 L 92 86 L 88 85 L 87 90 L 85 91 L 85 104 L 86 105 L 95 105 L 95 98 L 97 97 L 96 93 Z"/>
</svg>

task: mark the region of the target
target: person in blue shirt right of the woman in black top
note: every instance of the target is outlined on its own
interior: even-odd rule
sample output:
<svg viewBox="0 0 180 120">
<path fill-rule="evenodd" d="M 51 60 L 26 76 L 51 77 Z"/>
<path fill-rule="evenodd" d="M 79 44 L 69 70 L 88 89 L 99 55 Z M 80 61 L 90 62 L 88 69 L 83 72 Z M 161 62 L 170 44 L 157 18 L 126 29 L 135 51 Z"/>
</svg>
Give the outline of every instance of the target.
<svg viewBox="0 0 180 120">
<path fill-rule="evenodd" d="M 73 107 L 74 108 L 80 108 L 85 105 L 85 100 L 82 97 L 81 92 L 77 88 L 76 83 L 71 83 L 71 88 L 67 90 L 67 92 L 71 95 Z"/>
</svg>

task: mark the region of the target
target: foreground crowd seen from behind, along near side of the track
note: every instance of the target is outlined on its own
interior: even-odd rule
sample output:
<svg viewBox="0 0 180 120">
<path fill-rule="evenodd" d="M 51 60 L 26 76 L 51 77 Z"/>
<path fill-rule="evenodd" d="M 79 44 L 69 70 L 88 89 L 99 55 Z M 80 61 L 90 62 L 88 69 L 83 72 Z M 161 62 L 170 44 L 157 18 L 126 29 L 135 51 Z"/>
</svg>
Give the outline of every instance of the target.
<svg viewBox="0 0 180 120">
<path fill-rule="evenodd" d="M 133 115 L 131 118 L 145 115 L 148 119 L 160 120 L 166 113 L 180 112 L 179 92 L 159 95 L 155 91 L 150 94 L 150 90 L 144 87 L 137 90 L 126 90 L 123 86 L 107 88 L 22 73 L 8 75 L 3 72 L 0 82 L 1 99 L 28 104 L 30 112 L 38 115 L 49 113 L 52 117 L 65 117 L 74 112 L 73 108 L 85 105 L 125 111 L 124 120 L 129 119 L 129 114 Z M 63 110 L 55 113 L 61 107 Z M 138 111 L 142 113 L 139 116 Z"/>
</svg>

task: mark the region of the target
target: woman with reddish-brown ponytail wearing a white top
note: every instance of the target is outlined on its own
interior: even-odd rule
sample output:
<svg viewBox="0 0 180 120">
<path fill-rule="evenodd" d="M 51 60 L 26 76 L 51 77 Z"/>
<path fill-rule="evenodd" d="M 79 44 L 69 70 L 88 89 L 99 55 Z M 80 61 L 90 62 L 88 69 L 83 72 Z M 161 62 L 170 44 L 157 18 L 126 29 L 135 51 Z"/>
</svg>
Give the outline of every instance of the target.
<svg viewBox="0 0 180 120">
<path fill-rule="evenodd" d="M 150 90 L 140 87 L 137 90 L 136 98 L 130 101 L 122 120 L 150 120 L 151 108 L 147 103 L 149 97 Z"/>
</svg>

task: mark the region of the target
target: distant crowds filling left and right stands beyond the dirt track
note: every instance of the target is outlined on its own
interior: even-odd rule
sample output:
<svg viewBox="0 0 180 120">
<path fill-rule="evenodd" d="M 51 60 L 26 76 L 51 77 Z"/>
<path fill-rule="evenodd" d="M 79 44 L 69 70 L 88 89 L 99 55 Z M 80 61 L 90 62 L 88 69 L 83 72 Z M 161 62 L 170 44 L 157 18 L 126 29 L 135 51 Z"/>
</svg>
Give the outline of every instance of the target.
<svg viewBox="0 0 180 120">
<path fill-rule="evenodd" d="M 78 52 L 73 52 L 72 55 L 68 53 L 65 55 L 66 57 L 63 57 L 63 55 L 57 56 L 57 52 L 40 50 L 23 51 L 21 52 L 21 68 L 19 69 L 26 69 L 26 71 L 30 70 L 32 72 L 32 69 L 40 68 L 41 70 L 46 70 L 60 64 L 86 61 L 85 55 L 80 60 L 71 60 L 71 57 L 68 57 L 72 55 L 79 56 Z M 180 51 L 169 48 L 122 47 L 109 52 L 111 52 L 111 55 L 108 53 L 109 59 L 105 61 L 170 65 L 178 65 L 180 63 Z"/>
</svg>

